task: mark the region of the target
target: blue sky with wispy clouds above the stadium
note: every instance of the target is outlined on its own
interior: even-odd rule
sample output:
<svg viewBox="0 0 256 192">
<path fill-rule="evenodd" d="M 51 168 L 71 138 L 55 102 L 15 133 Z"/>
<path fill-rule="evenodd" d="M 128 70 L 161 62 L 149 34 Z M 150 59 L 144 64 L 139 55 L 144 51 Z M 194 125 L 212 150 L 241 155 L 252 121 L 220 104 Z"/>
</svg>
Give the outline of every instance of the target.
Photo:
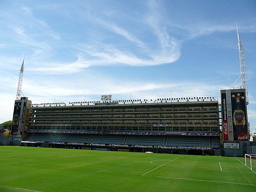
<svg viewBox="0 0 256 192">
<path fill-rule="evenodd" d="M 220 97 L 240 75 L 256 129 L 255 0 L 0 0 L 0 122 L 32 103 Z M 234 87 L 240 87 L 241 80 Z"/>
</svg>

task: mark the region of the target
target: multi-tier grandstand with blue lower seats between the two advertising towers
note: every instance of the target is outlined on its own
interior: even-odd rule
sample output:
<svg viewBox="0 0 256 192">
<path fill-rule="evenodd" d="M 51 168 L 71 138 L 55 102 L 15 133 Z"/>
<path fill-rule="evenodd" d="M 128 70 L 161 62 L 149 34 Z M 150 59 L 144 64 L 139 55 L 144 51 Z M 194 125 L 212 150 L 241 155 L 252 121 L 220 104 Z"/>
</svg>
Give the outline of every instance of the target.
<svg viewBox="0 0 256 192">
<path fill-rule="evenodd" d="M 218 99 L 110 99 L 29 104 L 21 145 L 220 155 Z"/>
</svg>

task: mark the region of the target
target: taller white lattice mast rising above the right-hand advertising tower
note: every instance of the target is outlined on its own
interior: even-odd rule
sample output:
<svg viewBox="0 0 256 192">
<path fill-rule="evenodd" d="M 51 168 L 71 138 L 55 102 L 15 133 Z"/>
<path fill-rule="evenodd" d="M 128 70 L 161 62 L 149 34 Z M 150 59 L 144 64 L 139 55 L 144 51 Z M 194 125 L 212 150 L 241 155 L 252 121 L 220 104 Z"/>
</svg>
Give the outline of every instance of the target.
<svg viewBox="0 0 256 192">
<path fill-rule="evenodd" d="M 246 97 L 246 104 L 249 104 L 248 101 L 248 90 L 247 90 L 247 76 L 246 76 L 246 68 L 245 68 L 245 59 L 244 59 L 244 48 L 241 44 L 240 37 L 239 37 L 239 32 L 238 32 L 238 27 L 237 27 L 237 22 L 236 22 L 236 30 L 237 30 L 237 38 L 238 38 L 238 48 L 239 48 L 239 58 L 240 58 L 240 71 L 241 75 L 239 76 L 238 79 L 233 83 L 233 85 L 230 87 L 230 89 L 236 84 L 236 82 L 240 79 L 242 80 L 242 85 L 241 88 L 245 89 L 245 97 Z"/>
</svg>

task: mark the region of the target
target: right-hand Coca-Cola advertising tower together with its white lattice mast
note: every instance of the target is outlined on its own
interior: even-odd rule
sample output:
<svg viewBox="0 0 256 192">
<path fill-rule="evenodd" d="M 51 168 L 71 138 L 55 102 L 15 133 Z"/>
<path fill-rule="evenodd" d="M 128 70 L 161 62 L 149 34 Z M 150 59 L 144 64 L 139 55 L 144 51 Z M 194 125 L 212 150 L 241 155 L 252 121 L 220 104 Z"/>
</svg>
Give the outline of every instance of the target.
<svg viewBox="0 0 256 192">
<path fill-rule="evenodd" d="M 225 141 L 248 141 L 248 121 L 247 121 L 247 77 L 245 69 L 244 48 L 241 45 L 238 27 L 236 23 L 240 72 L 241 75 L 230 87 L 229 90 L 221 90 L 221 113 L 222 113 L 222 131 Z M 239 88 L 233 88 L 241 77 Z M 234 143 L 237 144 L 237 143 Z"/>
</svg>

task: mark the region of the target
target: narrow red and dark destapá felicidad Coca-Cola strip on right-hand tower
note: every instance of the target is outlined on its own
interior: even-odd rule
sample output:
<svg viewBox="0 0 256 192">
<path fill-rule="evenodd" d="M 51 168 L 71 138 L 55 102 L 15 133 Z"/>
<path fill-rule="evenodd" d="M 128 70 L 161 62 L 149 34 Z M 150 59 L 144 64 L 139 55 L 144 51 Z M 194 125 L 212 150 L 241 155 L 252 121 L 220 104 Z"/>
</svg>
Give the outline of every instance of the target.
<svg viewBox="0 0 256 192">
<path fill-rule="evenodd" d="M 222 131 L 224 141 L 228 141 L 228 123 L 227 123 L 227 98 L 226 93 L 221 93 L 221 111 L 222 111 Z"/>
</svg>

